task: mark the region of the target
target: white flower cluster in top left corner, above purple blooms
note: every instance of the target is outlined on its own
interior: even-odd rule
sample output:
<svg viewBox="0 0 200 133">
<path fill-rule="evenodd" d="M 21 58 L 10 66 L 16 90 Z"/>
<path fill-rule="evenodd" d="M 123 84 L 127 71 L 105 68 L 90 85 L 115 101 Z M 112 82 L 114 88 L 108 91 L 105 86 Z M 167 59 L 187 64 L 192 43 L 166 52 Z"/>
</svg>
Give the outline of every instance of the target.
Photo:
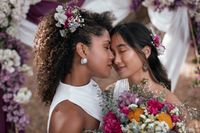
<svg viewBox="0 0 200 133">
<path fill-rule="evenodd" d="M 31 4 L 41 0 L 1 0 L 0 28 L 6 29 L 11 36 L 17 36 L 20 22 L 26 18 Z"/>
</svg>

